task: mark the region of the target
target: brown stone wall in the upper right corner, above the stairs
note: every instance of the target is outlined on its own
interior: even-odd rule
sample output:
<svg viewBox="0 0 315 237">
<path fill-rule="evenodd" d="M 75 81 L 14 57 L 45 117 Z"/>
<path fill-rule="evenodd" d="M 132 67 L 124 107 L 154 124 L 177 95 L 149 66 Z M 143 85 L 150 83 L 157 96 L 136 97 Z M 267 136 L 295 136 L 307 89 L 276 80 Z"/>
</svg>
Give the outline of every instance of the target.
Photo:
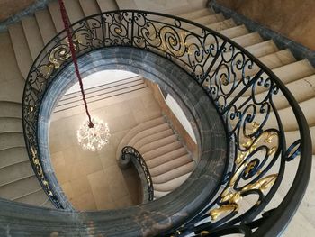
<svg viewBox="0 0 315 237">
<path fill-rule="evenodd" d="M 315 50 L 314 0 L 217 0 L 217 2 Z"/>
</svg>

